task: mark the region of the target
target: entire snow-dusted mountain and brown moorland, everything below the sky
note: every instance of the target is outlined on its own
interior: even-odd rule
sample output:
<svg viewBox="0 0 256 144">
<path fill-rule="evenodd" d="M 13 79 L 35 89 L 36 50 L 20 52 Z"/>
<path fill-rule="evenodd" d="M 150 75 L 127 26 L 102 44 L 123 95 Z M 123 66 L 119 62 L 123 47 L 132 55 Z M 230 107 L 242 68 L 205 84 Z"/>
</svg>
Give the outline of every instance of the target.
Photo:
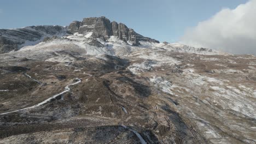
<svg viewBox="0 0 256 144">
<path fill-rule="evenodd" d="M 106 17 L 0 32 L 0 143 L 256 142 L 254 55 Z"/>
</svg>

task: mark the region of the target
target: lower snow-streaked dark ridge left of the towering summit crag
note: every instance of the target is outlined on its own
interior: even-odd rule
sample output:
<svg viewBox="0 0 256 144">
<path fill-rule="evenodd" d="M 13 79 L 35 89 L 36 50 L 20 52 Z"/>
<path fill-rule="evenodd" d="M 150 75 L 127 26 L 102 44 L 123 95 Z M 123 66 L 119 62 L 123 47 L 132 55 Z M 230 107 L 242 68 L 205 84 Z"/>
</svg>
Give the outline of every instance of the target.
<svg viewBox="0 0 256 144">
<path fill-rule="evenodd" d="M 0 53 L 19 50 L 26 42 L 37 44 L 48 35 L 65 35 L 66 28 L 61 26 L 31 26 L 16 29 L 0 29 Z"/>
</svg>

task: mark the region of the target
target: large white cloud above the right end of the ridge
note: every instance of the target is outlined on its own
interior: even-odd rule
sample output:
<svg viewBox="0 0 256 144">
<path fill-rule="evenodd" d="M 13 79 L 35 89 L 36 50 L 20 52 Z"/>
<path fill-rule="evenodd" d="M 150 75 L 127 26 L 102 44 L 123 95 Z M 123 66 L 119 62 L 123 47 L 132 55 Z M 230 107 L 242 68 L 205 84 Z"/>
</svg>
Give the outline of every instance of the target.
<svg viewBox="0 0 256 144">
<path fill-rule="evenodd" d="M 222 9 L 188 29 L 181 43 L 237 54 L 256 54 L 256 0 Z"/>
</svg>

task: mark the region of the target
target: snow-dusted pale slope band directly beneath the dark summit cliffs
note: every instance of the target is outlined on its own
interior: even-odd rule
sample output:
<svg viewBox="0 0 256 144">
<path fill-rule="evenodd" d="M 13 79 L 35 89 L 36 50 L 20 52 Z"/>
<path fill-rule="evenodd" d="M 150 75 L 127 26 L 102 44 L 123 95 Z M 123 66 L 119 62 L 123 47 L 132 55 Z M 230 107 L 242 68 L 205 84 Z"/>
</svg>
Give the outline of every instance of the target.
<svg viewBox="0 0 256 144">
<path fill-rule="evenodd" d="M 68 49 L 72 47 L 84 55 L 112 55 L 112 56 L 138 56 L 153 58 L 157 57 L 158 53 L 153 54 L 153 51 L 170 51 L 170 52 L 185 52 L 196 53 L 200 55 L 226 55 L 227 53 L 214 51 L 210 49 L 195 48 L 182 44 L 165 44 L 140 41 L 140 45 L 134 46 L 130 41 L 124 41 L 116 36 L 111 36 L 104 41 L 100 38 L 92 38 L 91 35 L 72 34 L 59 38 L 53 38 L 43 41 L 32 46 L 24 46 L 19 51 L 13 52 L 17 56 L 37 55 L 36 53 L 51 53 L 55 50 Z M 150 55 L 145 54 L 150 53 Z M 38 54 L 39 55 L 39 54 Z M 46 56 L 46 54 L 44 55 Z M 161 56 L 159 56 L 161 57 Z M 37 57 L 38 58 L 38 57 Z M 159 61 L 164 62 L 165 58 Z"/>
</svg>

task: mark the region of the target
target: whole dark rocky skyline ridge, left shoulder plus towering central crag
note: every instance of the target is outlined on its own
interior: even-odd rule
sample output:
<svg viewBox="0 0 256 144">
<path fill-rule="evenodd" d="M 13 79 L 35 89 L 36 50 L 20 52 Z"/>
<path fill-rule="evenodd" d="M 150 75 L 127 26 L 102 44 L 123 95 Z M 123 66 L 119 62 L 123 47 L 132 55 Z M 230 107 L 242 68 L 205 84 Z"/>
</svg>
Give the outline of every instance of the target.
<svg viewBox="0 0 256 144">
<path fill-rule="evenodd" d="M 143 37 L 123 23 L 110 22 L 106 17 L 90 17 L 85 18 L 82 22 L 74 21 L 68 27 L 31 26 L 0 29 L 0 53 L 19 50 L 27 45 L 38 44 L 45 37 L 53 37 L 54 35 L 62 37 L 74 33 L 90 35 L 93 38 L 101 38 L 103 40 L 107 40 L 113 35 L 121 40 L 131 41 L 133 45 L 139 45 L 138 41 L 159 43 L 157 40 Z"/>
</svg>

